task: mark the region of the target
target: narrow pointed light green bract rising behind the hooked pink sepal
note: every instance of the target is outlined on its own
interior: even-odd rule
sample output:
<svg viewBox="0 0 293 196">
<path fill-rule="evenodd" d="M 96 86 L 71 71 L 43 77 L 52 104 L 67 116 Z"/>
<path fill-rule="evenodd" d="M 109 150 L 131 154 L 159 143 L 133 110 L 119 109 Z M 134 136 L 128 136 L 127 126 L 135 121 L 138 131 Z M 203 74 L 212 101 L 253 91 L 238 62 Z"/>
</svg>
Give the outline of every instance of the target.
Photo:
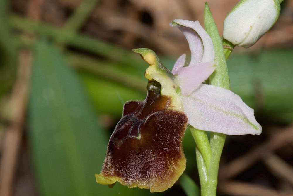
<svg viewBox="0 0 293 196">
<path fill-rule="evenodd" d="M 205 3 L 204 11 L 205 30 L 212 38 L 215 50 L 215 63 L 217 64 L 215 71 L 209 77 L 209 81 L 212 85 L 229 89 L 229 75 L 227 69 L 227 63 L 223 51 L 222 40 L 219 36 L 217 26 L 215 24 L 212 13 L 209 9 L 207 2 Z"/>
</svg>

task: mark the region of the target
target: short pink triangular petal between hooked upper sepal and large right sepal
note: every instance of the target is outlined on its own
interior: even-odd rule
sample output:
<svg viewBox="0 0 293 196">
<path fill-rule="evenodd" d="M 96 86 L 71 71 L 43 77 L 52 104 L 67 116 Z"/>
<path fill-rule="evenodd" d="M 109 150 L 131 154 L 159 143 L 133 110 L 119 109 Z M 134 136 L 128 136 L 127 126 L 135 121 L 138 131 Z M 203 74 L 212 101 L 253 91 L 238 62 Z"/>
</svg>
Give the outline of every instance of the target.
<svg viewBox="0 0 293 196">
<path fill-rule="evenodd" d="M 181 68 L 177 72 L 177 83 L 181 88 L 181 94 L 192 93 L 213 73 L 215 67 L 214 62 L 209 62 Z"/>
</svg>

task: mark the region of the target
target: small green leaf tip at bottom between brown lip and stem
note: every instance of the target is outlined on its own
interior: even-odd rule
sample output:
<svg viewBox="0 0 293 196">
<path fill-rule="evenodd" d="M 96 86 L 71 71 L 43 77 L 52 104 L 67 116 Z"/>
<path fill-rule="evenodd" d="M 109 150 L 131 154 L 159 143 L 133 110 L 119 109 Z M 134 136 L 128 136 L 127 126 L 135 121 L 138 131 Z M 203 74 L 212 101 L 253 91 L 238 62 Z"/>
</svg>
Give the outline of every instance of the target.
<svg viewBox="0 0 293 196">
<path fill-rule="evenodd" d="M 179 183 L 187 196 L 200 196 L 199 187 L 187 174 L 182 174 Z"/>
</svg>

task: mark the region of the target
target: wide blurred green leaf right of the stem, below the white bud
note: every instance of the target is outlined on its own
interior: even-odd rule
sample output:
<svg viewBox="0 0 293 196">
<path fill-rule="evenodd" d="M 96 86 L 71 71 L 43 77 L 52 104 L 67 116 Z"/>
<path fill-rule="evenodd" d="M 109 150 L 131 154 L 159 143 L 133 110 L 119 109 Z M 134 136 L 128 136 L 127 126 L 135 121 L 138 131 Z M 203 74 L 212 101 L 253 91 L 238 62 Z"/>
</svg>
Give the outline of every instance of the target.
<svg viewBox="0 0 293 196">
<path fill-rule="evenodd" d="M 293 121 L 293 50 L 264 50 L 228 59 L 231 90 L 264 121 Z"/>
</svg>

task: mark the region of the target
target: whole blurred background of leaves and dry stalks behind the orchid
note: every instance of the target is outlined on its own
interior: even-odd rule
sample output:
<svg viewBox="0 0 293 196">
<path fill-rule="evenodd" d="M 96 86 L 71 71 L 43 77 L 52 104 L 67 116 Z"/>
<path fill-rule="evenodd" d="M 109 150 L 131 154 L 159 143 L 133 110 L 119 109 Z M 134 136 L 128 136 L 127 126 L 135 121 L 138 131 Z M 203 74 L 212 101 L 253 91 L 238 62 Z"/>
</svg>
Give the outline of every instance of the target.
<svg viewBox="0 0 293 196">
<path fill-rule="evenodd" d="M 206 0 L 222 35 L 238 0 Z M 293 0 L 253 47 L 228 59 L 231 90 L 255 109 L 259 136 L 227 136 L 218 195 L 293 195 Z M 169 69 L 183 53 L 176 19 L 199 20 L 204 0 L 0 0 L 0 195 L 149 195 L 95 182 L 127 100 L 146 97 L 153 49 Z M 169 190 L 198 195 L 195 144 Z"/>
</svg>

